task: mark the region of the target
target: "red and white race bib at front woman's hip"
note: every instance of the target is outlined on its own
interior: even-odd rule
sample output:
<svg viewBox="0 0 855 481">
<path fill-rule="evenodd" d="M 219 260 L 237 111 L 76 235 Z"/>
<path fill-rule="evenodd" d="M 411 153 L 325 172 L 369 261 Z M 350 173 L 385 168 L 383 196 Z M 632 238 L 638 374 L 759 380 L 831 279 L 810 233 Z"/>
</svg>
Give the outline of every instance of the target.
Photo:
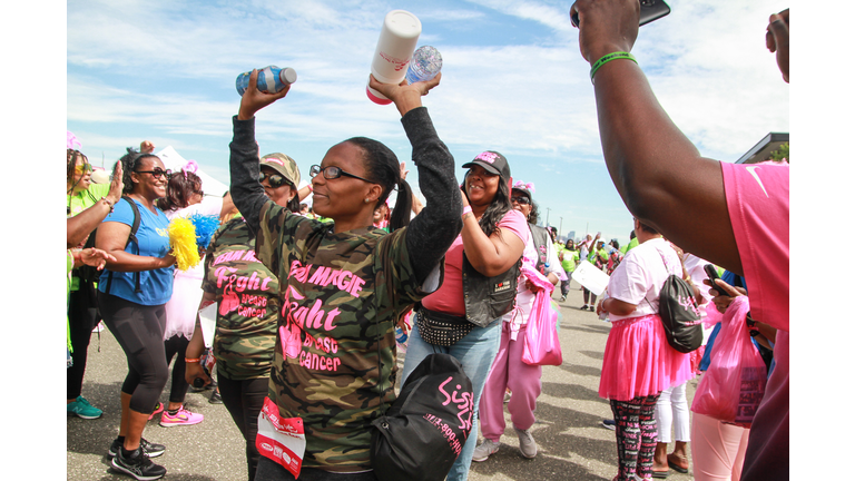
<svg viewBox="0 0 855 481">
<path fill-rule="evenodd" d="M 281 418 L 276 404 L 269 397 L 265 397 L 264 408 L 258 413 L 258 435 L 255 438 L 255 448 L 263 457 L 281 464 L 297 478 L 303 467 L 303 454 L 306 452 L 303 420 Z"/>
</svg>

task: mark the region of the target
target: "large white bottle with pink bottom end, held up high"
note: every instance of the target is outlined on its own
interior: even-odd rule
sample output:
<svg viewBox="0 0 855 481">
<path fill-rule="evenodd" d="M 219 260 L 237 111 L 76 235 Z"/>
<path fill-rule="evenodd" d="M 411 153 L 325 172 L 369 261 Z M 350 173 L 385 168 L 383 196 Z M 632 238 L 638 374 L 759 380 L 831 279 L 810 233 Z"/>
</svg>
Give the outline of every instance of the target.
<svg viewBox="0 0 855 481">
<path fill-rule="evenodd" d="M 419 18 L 405 10 L 392 10 L 383 19 L 383 28 L 380 31 L 377 48 L 374 50 L 374 59 L 371 62 L 371 73 L 383 84 L 401 84 L 406 76 L 406 66 L 413 57 L 415 43 L 422 33 L 422 22 Z M 371 77 L 368 77 L 368 84 Z M 380 105 L 391 104 L 383 94 L 366 86 L 371 101 Z"/>
</svg>

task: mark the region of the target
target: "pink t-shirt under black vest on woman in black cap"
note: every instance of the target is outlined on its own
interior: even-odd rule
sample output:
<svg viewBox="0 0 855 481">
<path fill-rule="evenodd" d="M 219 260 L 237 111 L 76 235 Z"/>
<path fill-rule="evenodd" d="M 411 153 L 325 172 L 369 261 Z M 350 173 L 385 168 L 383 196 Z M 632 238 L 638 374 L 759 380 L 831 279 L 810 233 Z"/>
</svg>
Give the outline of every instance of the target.
<svg viewBox="0 0 855 481">
<path fill-rule="evenodd" d="M 525 217 L 517 210 L 509 210 L 499 220 L 499 228 L 511 230 L 523 243 L 528 243 L 531 235 Z M 466 315 L 466 307 L 463 304 L 463 236 L 458 235 L 449 247 L 449 252 L 445 253 L 445 278 L 442 286 L 423 298 L 422 305 L 431 311 L 455 316 Z"/>
</svg>

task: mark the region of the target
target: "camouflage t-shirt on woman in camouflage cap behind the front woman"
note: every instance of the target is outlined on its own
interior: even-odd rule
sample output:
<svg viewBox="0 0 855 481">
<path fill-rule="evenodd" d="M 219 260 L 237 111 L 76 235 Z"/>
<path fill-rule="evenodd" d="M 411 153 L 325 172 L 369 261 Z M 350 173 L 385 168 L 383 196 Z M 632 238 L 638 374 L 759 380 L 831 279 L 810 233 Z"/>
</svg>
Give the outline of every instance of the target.
<svg viewBox="0 0 855 481">
<path fill-rule="evenodd" d="M 218 372 L 235 381 L 268 376 L 279 281 L 255 257 L 255 236 L 242 217 L 224 224 L 212 237 L 202 289 L 217 297 L 213 347 Z"/>
</svg>

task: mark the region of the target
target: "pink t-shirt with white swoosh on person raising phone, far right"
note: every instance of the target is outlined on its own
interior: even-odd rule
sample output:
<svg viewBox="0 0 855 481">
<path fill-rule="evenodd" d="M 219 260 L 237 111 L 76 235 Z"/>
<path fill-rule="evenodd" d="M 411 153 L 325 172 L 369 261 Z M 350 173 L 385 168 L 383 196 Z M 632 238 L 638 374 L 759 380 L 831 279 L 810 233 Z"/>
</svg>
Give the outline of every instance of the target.
<svg viewBox="0 0 855 481">
<path fill-rule="evenodd" d="M 789 165 L 721 163 L 751 317 L 789 332 Z"/>
</svg>

